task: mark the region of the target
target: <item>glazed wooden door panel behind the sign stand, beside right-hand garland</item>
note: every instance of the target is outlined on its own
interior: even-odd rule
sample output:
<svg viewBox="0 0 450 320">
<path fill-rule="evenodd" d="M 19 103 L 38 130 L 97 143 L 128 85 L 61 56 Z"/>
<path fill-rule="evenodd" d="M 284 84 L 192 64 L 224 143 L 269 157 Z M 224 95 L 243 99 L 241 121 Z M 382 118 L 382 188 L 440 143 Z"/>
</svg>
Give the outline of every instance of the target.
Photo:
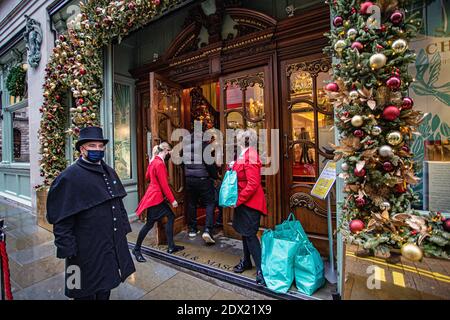
<svg viewBox="0 0 450 320">
<path fill-rule="evenodd" d="M 327 204 L 310 193 L 326 161 L 333 158 L 333 108 L 323 90 L 329 69 L 327 59 L 282 64 L 283 214 L 295 213 L 322 255 L 329 251 Z M 334 199 L 332 190 L 333 211 Z"/>
</svg>

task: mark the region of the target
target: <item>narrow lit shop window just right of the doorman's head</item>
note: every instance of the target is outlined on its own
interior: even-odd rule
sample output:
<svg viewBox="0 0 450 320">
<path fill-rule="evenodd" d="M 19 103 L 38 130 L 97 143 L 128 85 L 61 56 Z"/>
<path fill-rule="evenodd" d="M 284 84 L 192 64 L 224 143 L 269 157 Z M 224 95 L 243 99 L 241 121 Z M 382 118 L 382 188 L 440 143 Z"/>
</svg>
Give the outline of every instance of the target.
<svg viewBox="0 0 450 320">
<path fill-rule="evenodd" d="M 114 83 L 114 167 L 120 179 L 132 179 L 131 87 Z"/>
</svg>

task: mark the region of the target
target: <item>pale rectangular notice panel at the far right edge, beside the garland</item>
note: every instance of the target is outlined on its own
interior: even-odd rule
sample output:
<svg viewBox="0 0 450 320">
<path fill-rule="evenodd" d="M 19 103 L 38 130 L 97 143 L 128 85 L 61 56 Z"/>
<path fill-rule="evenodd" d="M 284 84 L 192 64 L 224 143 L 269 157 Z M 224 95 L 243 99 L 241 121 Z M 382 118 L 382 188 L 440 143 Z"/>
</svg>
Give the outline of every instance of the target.
<svg viewBox="0 0 450 320">
<path fill-rule="evenodd" d="M 450 162 L 428 161 L 428 210 L 450 212 Z"/>
</svg>

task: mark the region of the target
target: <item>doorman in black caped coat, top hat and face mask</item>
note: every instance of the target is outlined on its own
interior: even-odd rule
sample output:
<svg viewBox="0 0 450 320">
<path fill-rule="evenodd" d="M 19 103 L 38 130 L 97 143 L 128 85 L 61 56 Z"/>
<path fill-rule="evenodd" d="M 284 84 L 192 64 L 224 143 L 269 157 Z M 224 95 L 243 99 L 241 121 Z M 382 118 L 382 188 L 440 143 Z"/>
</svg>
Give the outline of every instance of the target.
<svg viewBox="0 0 450 320">
<path fill-rule="evenodd" d="M 102 160 L 106 143 L 101 128 L 82 129 L 76 144 L 82 156 L 48 192 L 47 219 L 54 225 L 56 256 L 66 259 L 69 298 L 108 300 L 111 289 L 136 271 L 126 238 L 126 192 Z"/>
</svg>

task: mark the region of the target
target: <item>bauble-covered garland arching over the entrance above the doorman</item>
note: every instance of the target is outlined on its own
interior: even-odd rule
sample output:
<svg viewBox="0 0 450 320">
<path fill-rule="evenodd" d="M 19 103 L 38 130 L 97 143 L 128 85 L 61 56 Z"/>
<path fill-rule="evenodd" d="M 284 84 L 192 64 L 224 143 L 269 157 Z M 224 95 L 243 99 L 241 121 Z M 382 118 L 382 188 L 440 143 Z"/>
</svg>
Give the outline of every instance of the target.
<svg viewBox="0 0 450 320">
<path fill-rule="evenodd" d="M 102 48 L 114 39 L 147 25 L 176 0 L 105 1 L 80 3 L 81 13 L 73 27 L 60 35 L 45 68 L 44 103 L 39 109 L 42 185 L 48 187 L 67 166 L 65 139 L 70 134 L 74 143 L 81 128 L 99 125 L 102 97 Z M 71 90 L 75 106 L 70 110 L 71 127 L 65 131 L 67 115 L 63 96 Z"/>
</svg>

